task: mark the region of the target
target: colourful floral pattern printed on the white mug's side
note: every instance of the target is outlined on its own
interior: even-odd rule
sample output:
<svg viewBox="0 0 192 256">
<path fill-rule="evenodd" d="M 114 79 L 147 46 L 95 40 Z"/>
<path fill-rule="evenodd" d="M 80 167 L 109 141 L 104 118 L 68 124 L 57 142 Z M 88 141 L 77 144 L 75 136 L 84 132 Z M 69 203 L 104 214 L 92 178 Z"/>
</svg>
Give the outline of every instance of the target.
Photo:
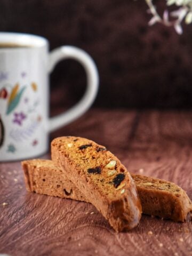
<svg viewBox="0 0 192 256">
<path fill-rule="evenodd" d="M 21 77 L 25 78 L 26 76 L 27 73 L 23 71 L 21 73 Z M 29 143 L 31 143 L 32 146 L 37 146 L 38 140 L 35 138 L 33 139 L 33 134 L 39 126 L 39 123 L 42 121 L 42 116 L 36 113 L 36 108 L 38 107 L 40 101 L 39 99 L 34 99 L 34 102 L 29 104 L 29 98 L 26 95 L 23 97 L 27 87 L 31 88 L 34 93 L 36 93 L 38 90 L 37 83 L 35 82 L 31 82 L 29 86 L 21 86 L 19 83 L 16 83 L 14 86 L 11 86 L 10 84 L 4 84 L 0 90 L 0 100 L 5 100 L 5 104 L 7 105 L 5 114 L 7 116 L 10 115 L 10 118 L 12 118 L 12 123 L 15 125 L 15 127 L 13 126 L 10 130 L 9 137 L 17 143 L 25 142 L 32 137 L 32 143 Z M 21 101 L 26 104 L 26 109 L 24 111 L 19 110 L 18 108 Z M 25 125 L 25 121 L 27 121 L 29 117 L 31 121 L 27 122 Z M 18 128 L 16 128 L 16 126 L 18 126 Z M 0 115 L 0 148 L 3 146 L 5 129 L 6 127 L 4 126 Z M 16 150 L 17 149 L 14 146 L 14 143 L 7 145 L 7 152 L 13 154 Z"/>
</svg>

